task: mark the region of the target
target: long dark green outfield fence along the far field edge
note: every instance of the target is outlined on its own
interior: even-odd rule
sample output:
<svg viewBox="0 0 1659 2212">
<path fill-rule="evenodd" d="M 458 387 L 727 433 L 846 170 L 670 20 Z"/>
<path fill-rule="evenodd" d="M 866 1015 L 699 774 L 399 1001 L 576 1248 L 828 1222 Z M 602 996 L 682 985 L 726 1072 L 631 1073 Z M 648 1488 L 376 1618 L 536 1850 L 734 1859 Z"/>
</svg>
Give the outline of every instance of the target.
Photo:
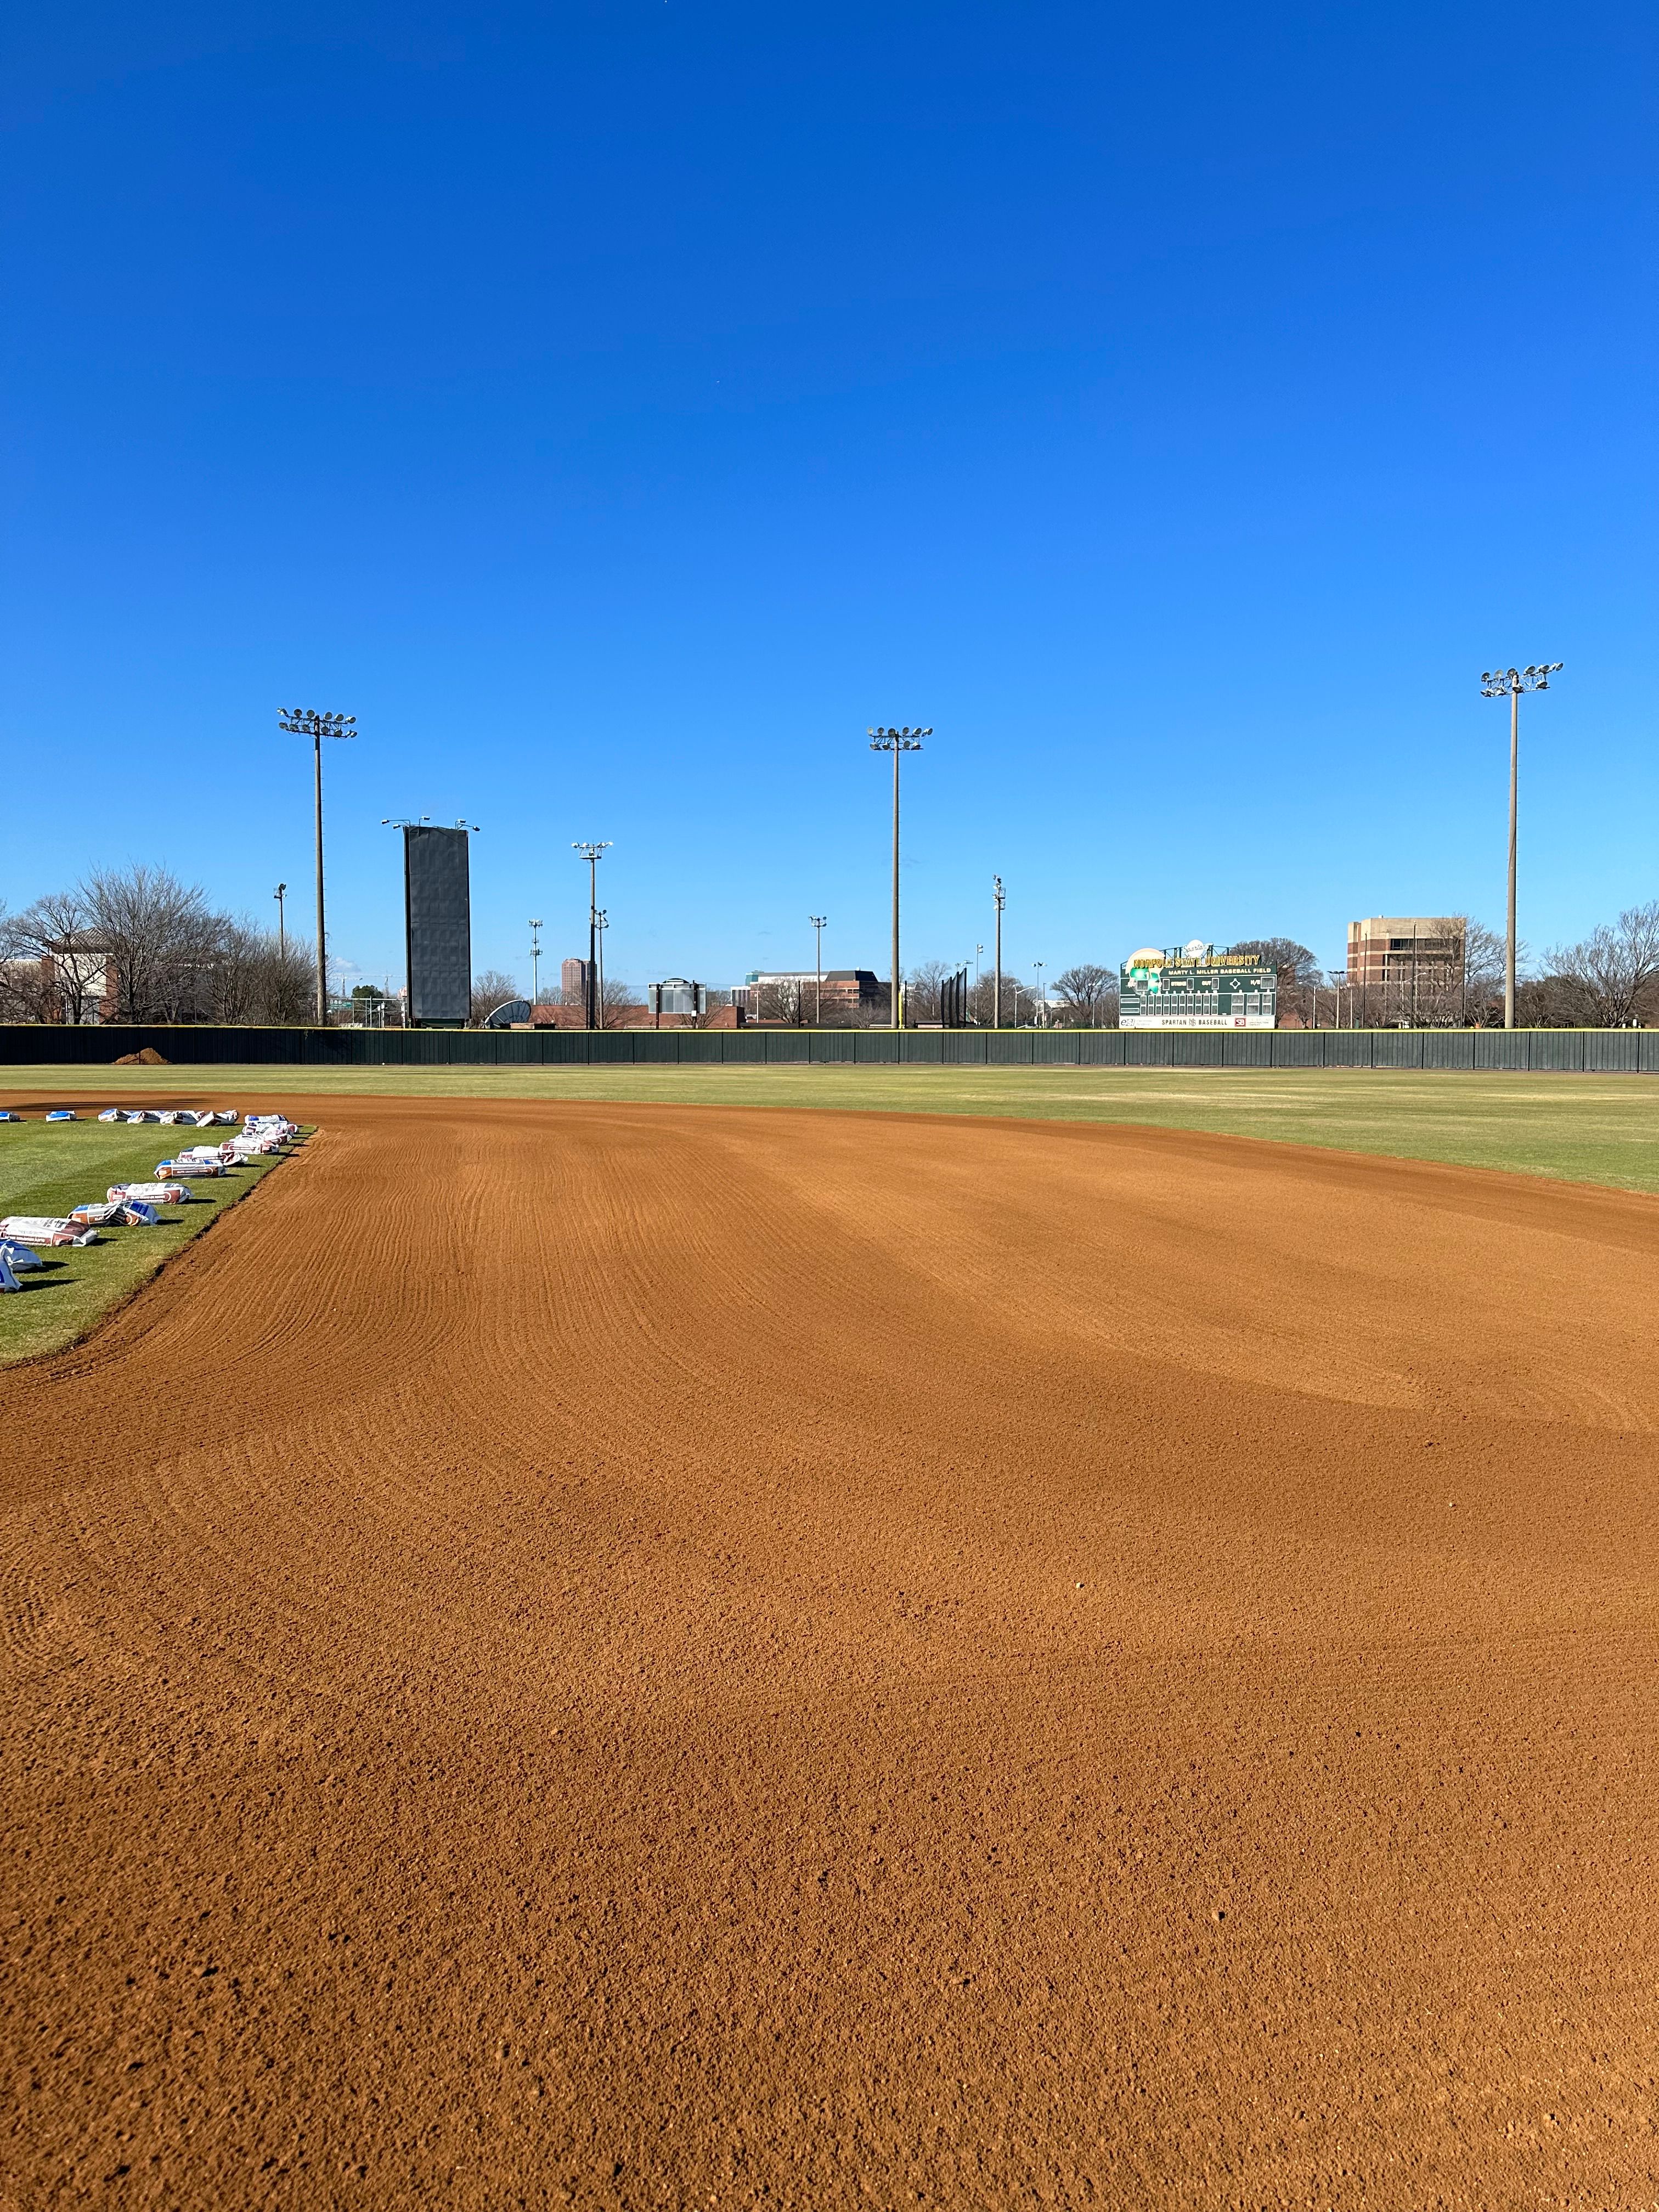
<svg viewBox="0 0 1659 2212">
<path fill-rule="evenodd" d="M 166 1029 L 0 1024 L 0 1066 L 1444 1068 L 1659 1075 L 1659 1029 Z"/>
</svg>

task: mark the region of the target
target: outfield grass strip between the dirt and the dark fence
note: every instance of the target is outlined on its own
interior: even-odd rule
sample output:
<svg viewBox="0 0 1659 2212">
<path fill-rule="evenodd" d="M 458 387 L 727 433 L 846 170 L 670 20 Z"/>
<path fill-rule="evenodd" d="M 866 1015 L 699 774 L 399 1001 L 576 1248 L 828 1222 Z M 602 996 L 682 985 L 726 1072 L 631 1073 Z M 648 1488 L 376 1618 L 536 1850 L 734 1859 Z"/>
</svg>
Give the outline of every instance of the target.
<svg viewBox="0 0 1659 2212">
<path fill-rule="evenodd" d="M 100 1091 L 88 1088 L 100 1084 Z M 1133 1121 L 1506 1168 L 1659 1192 L 1655 1075 L 1425 1075 L 1360 1068 L 66 1068 L 0 1071 L 0 1104 L 97 1108 L 301 1099 L 606 1099 L 659 1106 L 832 1106 Z M 164 1130 L 155 1133 L 166 1135 Z M 161 1155 L 157 1152 L 157 1159 Z"/>
</svg>

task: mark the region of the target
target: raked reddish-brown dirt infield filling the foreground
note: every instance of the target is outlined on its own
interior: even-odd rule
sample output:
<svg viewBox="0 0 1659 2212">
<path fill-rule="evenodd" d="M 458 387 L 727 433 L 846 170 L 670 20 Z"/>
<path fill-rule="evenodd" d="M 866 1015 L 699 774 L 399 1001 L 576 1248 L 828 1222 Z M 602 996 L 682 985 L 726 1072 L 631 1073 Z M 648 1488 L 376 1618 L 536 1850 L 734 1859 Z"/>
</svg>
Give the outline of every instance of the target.
<svg viewBox="0 0 1659 2212">
<path fill-rule="evenodd" d="M 0 1376 L 0 2205 L 1652 2203 L 1655 1310 L 1586 1188 L 330 1102 Z"/>
</svg>

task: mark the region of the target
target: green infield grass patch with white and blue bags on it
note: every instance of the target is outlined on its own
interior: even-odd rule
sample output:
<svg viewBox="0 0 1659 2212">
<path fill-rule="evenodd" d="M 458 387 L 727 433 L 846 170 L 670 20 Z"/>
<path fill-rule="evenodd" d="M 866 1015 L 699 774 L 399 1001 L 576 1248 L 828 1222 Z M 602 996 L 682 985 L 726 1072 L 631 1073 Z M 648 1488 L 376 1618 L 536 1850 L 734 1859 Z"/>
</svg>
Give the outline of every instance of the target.
<svg viewBox="0 0 1659 2212">
<path fill-rule="evenodd" d="M 7 1104 L 33 1117 L 0 1121 L 0 1214 L 66 1214 L 71 1206 L 102 1199 L 111 1183 L 148 1183 L 157 1159 L 168 1159 L 177 1146 L 208 1144 L 215 1137 L 215 1130 L 161 1128 L 155 1121 L 44 1126 L 38 1119 L 46 1104 L 73 1106 L 73 1097 L 53 1095 L 33 1108 L 18 1097 Z M 192 1183 L 199 1197 L 190 1206 L 159 1208 L 161 1219 L 153 1230 L 100 1230 L 95 1245 L 42 1252 L 44 1267 L 20 1274 L 22 1292 L 0 1298 L 0 1367 L 62 1352 L 86 1336 L 113 1305 L 131 1298 L 139 1283 L 246 1197 L 272 1166 L 276 1161 L 261 1159 L 232 1168 L 223 1181 Z"/>
</svg>

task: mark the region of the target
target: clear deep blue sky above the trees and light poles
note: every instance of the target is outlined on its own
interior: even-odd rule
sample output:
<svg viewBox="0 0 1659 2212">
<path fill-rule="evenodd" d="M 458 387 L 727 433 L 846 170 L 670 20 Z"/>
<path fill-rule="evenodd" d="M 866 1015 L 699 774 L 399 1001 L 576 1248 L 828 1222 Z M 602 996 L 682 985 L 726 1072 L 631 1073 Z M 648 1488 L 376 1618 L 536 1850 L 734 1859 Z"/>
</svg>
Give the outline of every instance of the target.
<svg viewBox="0 0 1659 2212">
<path fill-rule="evenodd" d="M 1659 896 L 1646 4 L 13 15 L 0 894 L 730 982 Z"/>
</svg>

